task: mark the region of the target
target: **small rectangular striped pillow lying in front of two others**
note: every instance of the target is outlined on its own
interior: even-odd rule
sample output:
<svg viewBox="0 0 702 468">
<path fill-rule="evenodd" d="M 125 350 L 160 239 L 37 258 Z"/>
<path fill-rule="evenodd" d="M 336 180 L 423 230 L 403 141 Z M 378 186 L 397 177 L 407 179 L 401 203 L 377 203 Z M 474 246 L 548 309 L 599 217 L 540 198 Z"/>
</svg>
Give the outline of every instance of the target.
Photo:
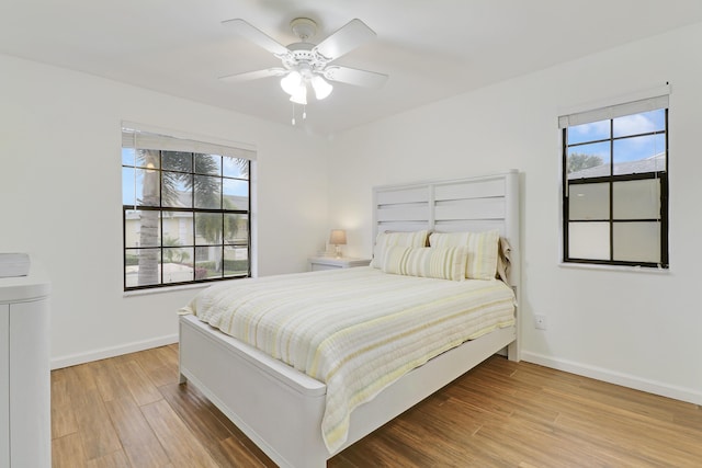
<svg viewBox="0 0 702 468">
<path fill-rule="evenodd" d="M 463 281 L 467 256 L 467 250 L 463 247 L 432 249 L 394 246 L 385 251 L 383 271 L 396 275 Z"/>
</svg>

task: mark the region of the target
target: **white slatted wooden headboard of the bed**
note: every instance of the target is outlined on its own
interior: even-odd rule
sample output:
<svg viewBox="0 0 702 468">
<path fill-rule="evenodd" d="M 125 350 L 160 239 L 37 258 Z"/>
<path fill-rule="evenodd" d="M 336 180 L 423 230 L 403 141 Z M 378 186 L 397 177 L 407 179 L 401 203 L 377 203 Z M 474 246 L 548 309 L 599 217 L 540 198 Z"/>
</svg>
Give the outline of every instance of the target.
<svg viewBox="0 0 702 468">
<path fill-rule="evenodd" d="M 511 246 L 509 282 L 519 286 L 519 171 L 373 189 L 373 241 L 378 232 L 420 229 L 498 229 Z"/>
</svg>

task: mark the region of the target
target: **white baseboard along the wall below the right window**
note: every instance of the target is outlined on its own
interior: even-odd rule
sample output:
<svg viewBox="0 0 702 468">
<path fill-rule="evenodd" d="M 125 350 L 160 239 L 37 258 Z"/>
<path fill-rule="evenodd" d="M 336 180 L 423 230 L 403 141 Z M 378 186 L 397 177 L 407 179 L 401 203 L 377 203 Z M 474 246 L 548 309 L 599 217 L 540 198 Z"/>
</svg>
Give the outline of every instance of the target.
<svg viewBox="0 0 702 468">
<path fill-rule="evenodd" d="M 603 367 L 588 366 L 573 361 L 544 356 L 539 353 L 531 353 L 529 351 L 522 351 L 521 358 L 529 363 L 539 364 L 557 370 L 564 370 L 570 374 L 581 375 L 584 377 L 595 378 L 609 384 L 621 385 L 635 390 L 673 398 L 676 400 L 687 401 L 694 404 L 702 404 L 702 392 L 691 388 L 648 380 L 630 374 L 622 374 L 611 369 L 605 369 Z"/>
</svg>

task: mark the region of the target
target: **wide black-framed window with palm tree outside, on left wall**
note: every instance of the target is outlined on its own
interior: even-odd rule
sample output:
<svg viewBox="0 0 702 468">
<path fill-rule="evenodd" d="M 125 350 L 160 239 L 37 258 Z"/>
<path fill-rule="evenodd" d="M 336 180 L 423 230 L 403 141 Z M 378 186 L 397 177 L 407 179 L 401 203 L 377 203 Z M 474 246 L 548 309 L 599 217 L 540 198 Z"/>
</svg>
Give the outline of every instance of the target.
<svg viewBox="0 0 702 468">
<path fill-rule="evenodd" d="M 250 276 L 253 156 L 122 129 L 125 290 Z"/>
</svg>

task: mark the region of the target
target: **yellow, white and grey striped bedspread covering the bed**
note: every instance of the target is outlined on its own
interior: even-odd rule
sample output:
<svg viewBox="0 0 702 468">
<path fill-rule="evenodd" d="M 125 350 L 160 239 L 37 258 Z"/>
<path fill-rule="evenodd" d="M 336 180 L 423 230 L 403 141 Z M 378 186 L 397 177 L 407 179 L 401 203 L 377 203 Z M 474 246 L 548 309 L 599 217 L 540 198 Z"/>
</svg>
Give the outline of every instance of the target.
<svg viewBox="0 0 702 468">
<path fill-rule="evenodd" d="M 444 351 L 513 324 L 513 306 L 497 279 L 355 267 L 218 284 L 183 311 L 325 383 L 321 431 L 333 453 L 354 408 Z"/>
</svg>

